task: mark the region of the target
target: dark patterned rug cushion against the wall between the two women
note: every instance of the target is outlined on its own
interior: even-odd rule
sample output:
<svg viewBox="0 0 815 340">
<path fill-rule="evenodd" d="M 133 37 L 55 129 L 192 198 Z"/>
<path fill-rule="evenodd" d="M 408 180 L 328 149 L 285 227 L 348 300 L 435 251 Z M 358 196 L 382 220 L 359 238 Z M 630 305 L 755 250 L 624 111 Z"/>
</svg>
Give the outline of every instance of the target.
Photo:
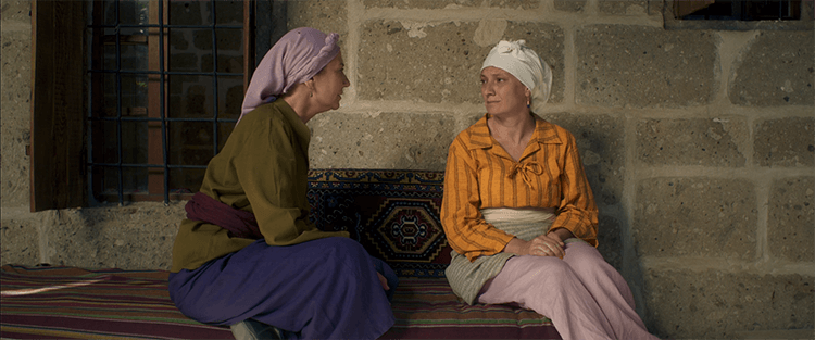
<svg viewBox="0 0 815 340">
<path fill-rule="evenodd" d="M 311 219 L 347 230 L 401 277 L 444 277 L 450 245 L 439 221 L 443 172 L 317 169 Z"/>
</svg>

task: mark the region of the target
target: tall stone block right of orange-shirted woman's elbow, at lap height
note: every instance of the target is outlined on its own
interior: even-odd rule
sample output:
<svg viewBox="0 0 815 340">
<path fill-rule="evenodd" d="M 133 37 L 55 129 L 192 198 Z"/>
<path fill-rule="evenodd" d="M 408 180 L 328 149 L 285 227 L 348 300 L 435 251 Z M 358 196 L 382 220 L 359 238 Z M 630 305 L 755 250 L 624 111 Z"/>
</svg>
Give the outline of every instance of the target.
<svg viewBox="0 0 815 340">
<path fill-rule="evenodd" d="M 757 207 L 749 181 L 650 178 L 637 186 L 632 235 L 642 256 L 756 256 Z"/>
</svg>

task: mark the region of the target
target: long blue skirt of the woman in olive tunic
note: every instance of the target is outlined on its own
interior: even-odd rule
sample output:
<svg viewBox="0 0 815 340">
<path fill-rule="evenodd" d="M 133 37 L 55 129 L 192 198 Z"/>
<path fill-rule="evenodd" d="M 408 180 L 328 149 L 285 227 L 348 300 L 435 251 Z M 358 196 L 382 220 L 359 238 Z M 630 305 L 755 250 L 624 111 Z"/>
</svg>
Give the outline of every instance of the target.
<svg viewBox="0 0 815 340">
<path fill-rule="evenodd" d="M 303 339 L 376 339 L 393 326 L 389 297 L 398 282 L 359 242 L 330 237 L 287 247 L 258 240 L 172 273 L 168 286 L 178 310 L 204 324 L 252 318 Z"/>
</svg>

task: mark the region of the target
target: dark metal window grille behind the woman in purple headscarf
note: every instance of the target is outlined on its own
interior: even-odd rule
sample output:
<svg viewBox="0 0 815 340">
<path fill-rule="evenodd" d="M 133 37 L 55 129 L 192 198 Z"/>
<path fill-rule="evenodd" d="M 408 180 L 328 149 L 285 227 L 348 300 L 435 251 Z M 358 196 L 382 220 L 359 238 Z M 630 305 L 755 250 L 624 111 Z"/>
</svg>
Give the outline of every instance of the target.
<svg viewBox="0 0 815 340">
<path fill-rule="evenodd" d="M 97 202 L 198 191 L 240 114 L 252 7 L 105 0 L 89 7 L 88 190 Z"/>
</svg>

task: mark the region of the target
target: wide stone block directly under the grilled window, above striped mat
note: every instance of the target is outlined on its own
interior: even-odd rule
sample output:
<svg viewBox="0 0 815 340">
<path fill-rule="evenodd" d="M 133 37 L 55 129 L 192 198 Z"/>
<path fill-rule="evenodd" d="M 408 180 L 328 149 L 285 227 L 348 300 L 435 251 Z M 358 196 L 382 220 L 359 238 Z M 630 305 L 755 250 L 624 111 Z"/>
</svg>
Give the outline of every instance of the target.
<svg viewBox="0 0 815 340">
<path fill-rule="evenodd" d="M 86 268 L 170 269 L 184 203 L 63 210 L 49 226 L 48 259 Z"/>
</svg>

